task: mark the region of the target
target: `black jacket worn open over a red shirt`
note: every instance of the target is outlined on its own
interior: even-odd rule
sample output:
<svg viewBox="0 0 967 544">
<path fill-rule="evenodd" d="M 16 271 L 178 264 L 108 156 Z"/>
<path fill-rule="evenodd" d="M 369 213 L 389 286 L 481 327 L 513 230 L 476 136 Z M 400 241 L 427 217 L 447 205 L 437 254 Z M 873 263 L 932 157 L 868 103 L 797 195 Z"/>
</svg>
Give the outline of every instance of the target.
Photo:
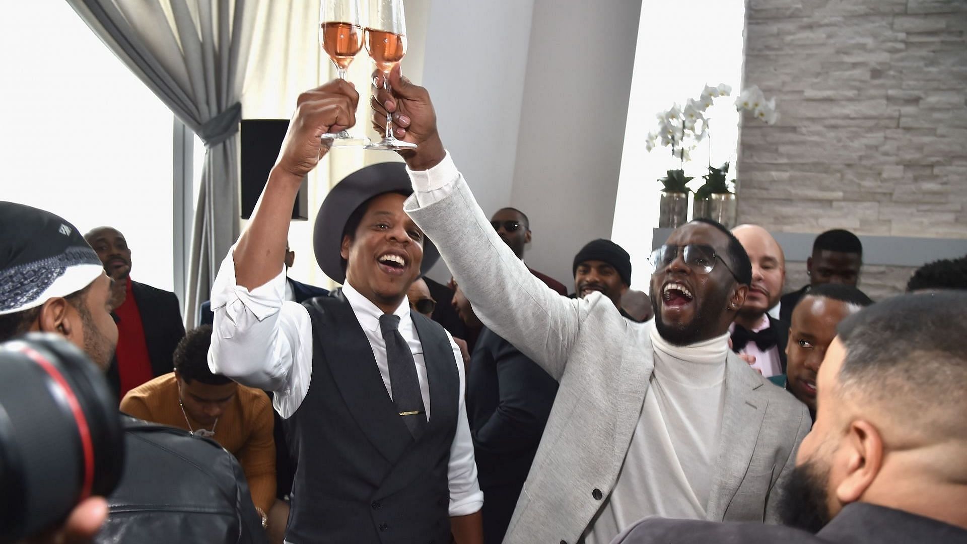
<svg viewBox="0 0 967 544">
<path fill-rule="evenodd" d="M 182 322 L 178 297 L 171 291 L 133 281 L 131 290 L 137 312 L 141 315 L 141 325 L 144 327 L 144 342 L 148 346 L 151 372 L 158 378 L 174 370 L 171 357 L 178 343 L 185 338 L 185 324 Z M 114 394 L 120 396 L 121 375 L 118 373 L 117 356 L 111 357 L 107 380 L 114 388 Z"/>
</svg>

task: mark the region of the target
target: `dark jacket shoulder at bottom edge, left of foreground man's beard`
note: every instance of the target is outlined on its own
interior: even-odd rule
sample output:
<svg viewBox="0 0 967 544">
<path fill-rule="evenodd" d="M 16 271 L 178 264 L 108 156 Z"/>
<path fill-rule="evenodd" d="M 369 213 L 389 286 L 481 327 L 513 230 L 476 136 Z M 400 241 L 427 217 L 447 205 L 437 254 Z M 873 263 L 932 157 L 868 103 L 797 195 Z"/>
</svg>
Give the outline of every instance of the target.
<svg viewBox="0 0 967 544">
<path fill-rule="evenodd" d="M 648 518 L 626 530 L 619 544 L 719 544 L 742 542 L 783 544 L 822 542 L 804 530 L 756 523 L 705 522 Z"/>
</svg>

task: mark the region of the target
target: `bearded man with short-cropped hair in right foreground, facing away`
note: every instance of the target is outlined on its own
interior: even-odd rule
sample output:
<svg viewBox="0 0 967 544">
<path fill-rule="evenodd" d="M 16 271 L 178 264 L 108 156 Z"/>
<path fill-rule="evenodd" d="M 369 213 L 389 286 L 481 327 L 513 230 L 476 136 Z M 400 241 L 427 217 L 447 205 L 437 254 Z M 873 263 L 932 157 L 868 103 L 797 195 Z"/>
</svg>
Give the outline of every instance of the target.
<svg viewBox="0 0 967 544">
<path fill-rule="evenodd" d="M 790 527 L 652 518 L 615 543 L 967 543 L 965 307 L 964 292 L 905 295 L 839 324 L 783 494 Z"/>
</svg>

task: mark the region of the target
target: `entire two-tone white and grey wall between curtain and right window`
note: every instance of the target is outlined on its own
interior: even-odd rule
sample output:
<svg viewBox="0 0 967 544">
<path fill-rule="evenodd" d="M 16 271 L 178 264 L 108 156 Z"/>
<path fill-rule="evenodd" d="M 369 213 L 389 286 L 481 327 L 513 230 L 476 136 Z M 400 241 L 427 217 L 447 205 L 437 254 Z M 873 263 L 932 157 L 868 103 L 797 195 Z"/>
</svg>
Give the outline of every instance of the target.
<svg viewBox="0 0 967 544">
<path fill-rule="evenodd" d="M 528 264 L 568 286 L 577 250 L 611 232 L 640 7 L 407 3 L 428 11 L 425 43 L 411 27 L 407 58 L 422 47 L 420 82 L 454 161 L 486 214 L 511 205 L 530 217 Z M 442 264 L 431 273 L 447 275 Z"/>
</svg>

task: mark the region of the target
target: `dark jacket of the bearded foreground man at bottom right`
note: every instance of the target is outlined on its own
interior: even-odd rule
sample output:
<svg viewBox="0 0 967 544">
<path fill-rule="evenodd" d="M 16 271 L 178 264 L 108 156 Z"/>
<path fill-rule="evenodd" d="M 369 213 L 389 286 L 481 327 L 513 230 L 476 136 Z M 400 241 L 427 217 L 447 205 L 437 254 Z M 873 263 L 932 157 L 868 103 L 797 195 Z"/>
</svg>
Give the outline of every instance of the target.
<svg viewBox="0 0 967 544">
<path fill-rule="evenodd" d="M 863 502 L 847 505 L 816 534 L 783 526 L 648 518 L 623 532 L 615 544 L 908 544 L 967 543 L 967 530 Z"/>
</svg>

